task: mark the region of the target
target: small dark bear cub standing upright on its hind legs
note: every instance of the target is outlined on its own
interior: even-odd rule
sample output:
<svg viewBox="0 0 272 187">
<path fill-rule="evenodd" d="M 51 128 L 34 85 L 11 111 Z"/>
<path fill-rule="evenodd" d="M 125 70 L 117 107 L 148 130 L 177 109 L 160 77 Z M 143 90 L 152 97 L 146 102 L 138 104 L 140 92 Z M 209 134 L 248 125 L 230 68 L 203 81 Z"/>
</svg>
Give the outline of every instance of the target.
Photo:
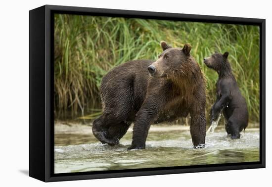
<svg viewBox="0 0 272 187">
<path fill-rule="evenodd" d="M 239 139 L 240 132 L 248 125 L 248 111 L 245 98 L 231 73 L 227 56 L 228 52 L 225 52 L 204 58 L 204 63 L 219 75 L 216 83 L 217 99 L 211 109 L 211 121 L 216 121 L 223 111 L 227 134 L 231 135 L 231 139 Z"/>
</svg>

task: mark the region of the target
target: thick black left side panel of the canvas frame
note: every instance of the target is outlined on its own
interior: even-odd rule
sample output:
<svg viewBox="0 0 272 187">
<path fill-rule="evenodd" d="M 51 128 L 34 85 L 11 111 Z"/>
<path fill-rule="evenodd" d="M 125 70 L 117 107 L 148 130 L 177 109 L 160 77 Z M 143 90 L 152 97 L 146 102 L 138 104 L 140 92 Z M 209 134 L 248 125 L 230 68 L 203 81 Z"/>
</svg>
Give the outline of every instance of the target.
<svg viewBox="0 0 272 187">
<path fill-rule="evenodd" d="M 45 6 L 29 11 L 29 176 L 41 181 L 46 170 L 44 16 Z"/>
</svg>

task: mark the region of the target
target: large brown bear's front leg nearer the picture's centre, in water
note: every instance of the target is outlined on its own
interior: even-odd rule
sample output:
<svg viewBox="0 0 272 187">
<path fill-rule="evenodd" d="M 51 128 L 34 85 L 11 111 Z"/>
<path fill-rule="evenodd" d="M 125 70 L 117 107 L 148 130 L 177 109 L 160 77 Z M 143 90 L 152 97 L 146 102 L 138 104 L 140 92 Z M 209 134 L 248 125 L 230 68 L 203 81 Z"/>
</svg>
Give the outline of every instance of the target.
<svg viewBox="0 0 272 187">
<path fill-rule="evenodd" d="M 156 102 L 155 102 L 156 103 Z M 128 148 L 131 149 L 144 149 L 145 140 L 150 128 L 150 123 L 158 112 L 158 106 L 145 103 L 136 114 L 136 120 L 133 127 L 132 145 Z"/>
</svg>

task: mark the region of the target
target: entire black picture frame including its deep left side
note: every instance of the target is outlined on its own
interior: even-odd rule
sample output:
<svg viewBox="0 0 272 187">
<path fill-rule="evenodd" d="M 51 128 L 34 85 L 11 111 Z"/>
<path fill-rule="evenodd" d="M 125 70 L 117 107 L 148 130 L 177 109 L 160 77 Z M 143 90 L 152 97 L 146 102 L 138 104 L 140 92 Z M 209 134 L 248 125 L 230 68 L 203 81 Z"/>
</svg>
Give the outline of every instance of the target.
<svg viewBox="0 0 272 187">
<path fill-rule="evenodd" d="M 167 168 L 54 174 L 53 15 L 257 25 L 260 27 L 260 161 Z M 29 176 L 44 182 L 265 168 L 265 19 L 44 5 L 29 12 Z"/>
</svg>

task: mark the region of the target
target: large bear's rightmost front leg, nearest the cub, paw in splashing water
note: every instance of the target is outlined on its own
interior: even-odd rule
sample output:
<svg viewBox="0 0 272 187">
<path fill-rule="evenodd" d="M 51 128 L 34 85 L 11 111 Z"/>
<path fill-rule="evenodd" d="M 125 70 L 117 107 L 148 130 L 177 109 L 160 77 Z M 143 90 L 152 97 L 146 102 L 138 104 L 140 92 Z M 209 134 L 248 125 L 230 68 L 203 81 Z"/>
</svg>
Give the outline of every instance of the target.
<svg viewBox="0 0 272 187">
<path fill-rule="evenodd" d="M 205 110 L 202 110 L 200 112 L 191 112 L 190 116 L 190 133 L 194 148 L 203 148 L 205 147 L 206 138 Z"/>
</svg>

